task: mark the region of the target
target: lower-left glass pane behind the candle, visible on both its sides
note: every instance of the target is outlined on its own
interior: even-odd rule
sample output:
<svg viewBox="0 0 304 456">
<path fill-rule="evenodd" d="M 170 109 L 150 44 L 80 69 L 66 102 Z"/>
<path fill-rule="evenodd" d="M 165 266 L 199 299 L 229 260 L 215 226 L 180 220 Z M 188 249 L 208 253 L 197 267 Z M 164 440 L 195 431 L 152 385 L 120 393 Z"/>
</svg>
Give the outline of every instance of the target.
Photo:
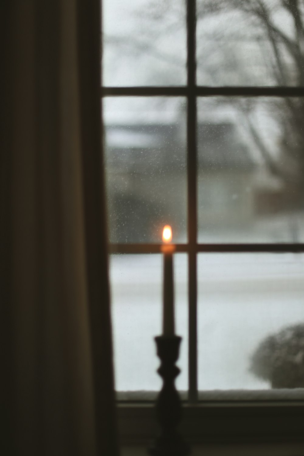
<svg viewBox="0 0 304 456">
<path fill-rule="evenodd" d="M 182 336 L 176 386 L 188 388 L 187 258 L 174 255 L 175 331 Z M 111 255 L 110 280 L 117 391 L 159 391 L 154 337 L 162 331 L 162 256 Z M 136 397 L 133 395 L 133 398 Z M 137 397 L 141 397 L 137 394 Z M 128 398 L 128 397 L 127 397 Z"/>
</svg>

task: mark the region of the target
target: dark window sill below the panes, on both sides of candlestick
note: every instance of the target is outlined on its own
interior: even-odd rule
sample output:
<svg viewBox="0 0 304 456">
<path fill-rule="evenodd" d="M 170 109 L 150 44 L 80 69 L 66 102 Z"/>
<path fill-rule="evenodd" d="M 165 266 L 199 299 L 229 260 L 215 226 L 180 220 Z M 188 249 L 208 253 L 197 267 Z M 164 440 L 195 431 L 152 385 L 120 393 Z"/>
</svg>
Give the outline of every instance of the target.
<svg viewBox="0 0 304 456">
<path fill-rule="evenodd" d="M 157 435 L 153 403 L 120 403 L 117 413 L 122 444 L 146 445 Z M 190 443 L 304 445 L 303 400 L 184 404 L 183 415 L 180 431 Z"/>
</svg>

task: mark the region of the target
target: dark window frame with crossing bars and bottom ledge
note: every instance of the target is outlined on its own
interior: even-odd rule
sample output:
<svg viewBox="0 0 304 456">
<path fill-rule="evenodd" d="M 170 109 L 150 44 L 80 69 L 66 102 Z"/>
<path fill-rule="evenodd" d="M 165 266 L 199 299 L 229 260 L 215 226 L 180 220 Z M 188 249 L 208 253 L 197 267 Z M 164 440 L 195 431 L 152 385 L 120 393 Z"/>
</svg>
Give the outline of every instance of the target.
<svg viewBox="0 0 304 456">
<path fill-rule="evenodd" d="M 102 1 L 102 0 L 101 0 Z M 301 420 L 304 400 L 200 402 L 197 388 L 197 254 L 198 253 L 299 253 L 297 244 L 202 244 L 197 242 L 197 109 L 199 97 L 304 97 L 301 87 L 207 87 L 196 84 L 196 0 L 186 2 L 187 82 L 185 86 L 104 87 L 107 97 L 185 97 L 187 100 L 187 231 L 188 242 L 176 252 L 188 254 L 189 390 L 182 430 L 191 441 L 303 441 Z M 109 244 L 109 253 L 161 253 L 161 244 Z M 152 403 L 118 403 L 123 442 L 147 441 L 155 434 Z M 244 425 L 244 422 L 246 425 Z"/>
</svg>

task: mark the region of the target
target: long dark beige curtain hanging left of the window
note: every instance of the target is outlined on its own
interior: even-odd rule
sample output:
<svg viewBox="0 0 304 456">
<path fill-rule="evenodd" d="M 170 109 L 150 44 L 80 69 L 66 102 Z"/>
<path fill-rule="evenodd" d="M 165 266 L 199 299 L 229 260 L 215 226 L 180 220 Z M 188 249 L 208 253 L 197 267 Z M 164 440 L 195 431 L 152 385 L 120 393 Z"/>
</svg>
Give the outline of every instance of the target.
<svg viewBox="0 0 304 456">
<path fill-rule="evenodd" d="M 116 455 L 98 0 L 0 2 L 1 455 Z"/>
</svg>

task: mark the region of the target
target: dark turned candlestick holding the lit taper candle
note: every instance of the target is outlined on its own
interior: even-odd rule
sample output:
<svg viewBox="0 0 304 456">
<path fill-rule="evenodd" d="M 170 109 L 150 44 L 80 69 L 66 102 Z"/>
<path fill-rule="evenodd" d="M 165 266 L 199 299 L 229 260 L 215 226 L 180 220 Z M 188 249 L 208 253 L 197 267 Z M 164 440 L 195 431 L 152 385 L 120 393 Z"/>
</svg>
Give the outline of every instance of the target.
<svg viewBox="0 0 304 456">
<path fill-rule="evenodd" d="M 155 337 L 157 356 L 161 365 L 158 373 L 163 378 L 163 387 L 156 401 L 156 419 L 160 424 L 160 435 L 149 447 L 153 456 L 185 456 L 190 447 L 184 442 L 176 427 L 182 417 L 180 396 L 175 389 L 175 377 L 180 369 L 175 366 L 179 356 L 181 337 Z"/>
</svg>

